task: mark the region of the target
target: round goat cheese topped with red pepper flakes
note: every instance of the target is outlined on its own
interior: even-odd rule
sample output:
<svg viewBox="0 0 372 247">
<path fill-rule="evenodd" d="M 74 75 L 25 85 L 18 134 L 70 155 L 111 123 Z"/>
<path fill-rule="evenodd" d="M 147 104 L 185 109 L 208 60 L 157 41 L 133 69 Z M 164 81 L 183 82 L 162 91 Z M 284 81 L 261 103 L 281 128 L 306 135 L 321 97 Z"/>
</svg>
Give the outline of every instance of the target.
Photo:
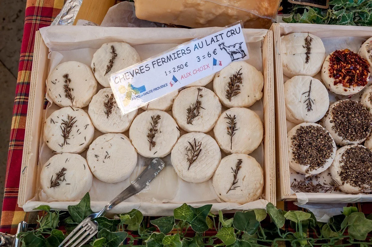
<svg viewBox="0 0 372 247">
<path fill-rule="evenodd" d="M 333 93 L 351 95 L 362 91 L 369 80 L 369 64 L 349 49 L 336 50 L 325 58 L 321 78 Z"/>
</svg>

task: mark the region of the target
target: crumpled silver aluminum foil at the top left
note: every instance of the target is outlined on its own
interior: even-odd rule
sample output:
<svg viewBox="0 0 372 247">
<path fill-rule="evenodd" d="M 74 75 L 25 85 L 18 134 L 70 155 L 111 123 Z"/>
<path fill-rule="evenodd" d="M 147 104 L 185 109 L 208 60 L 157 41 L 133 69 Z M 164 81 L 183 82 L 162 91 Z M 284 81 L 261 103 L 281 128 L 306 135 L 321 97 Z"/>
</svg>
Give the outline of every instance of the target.
<svg viewBox="0 0 372 247">
<path fill-rule="evenodd" d="M 53 25 L 73 25 L 83 0 L 66 0 L 61 12 L 55 17 Z"/>
</svg>

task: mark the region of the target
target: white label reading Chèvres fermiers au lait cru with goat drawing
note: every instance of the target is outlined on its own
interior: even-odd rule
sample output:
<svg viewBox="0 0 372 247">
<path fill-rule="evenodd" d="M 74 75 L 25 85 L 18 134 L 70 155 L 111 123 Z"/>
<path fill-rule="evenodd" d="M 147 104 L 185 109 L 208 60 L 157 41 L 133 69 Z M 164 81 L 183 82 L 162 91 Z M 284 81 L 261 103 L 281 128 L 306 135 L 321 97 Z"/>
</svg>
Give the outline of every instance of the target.
<svg viewBox="0 0 372 247">
<path fill-rule="evenodd" d="M 113 73 L 110 86 L 123 114 L 249 58 L 240 23 L 193 39 Z"/>
</svg>

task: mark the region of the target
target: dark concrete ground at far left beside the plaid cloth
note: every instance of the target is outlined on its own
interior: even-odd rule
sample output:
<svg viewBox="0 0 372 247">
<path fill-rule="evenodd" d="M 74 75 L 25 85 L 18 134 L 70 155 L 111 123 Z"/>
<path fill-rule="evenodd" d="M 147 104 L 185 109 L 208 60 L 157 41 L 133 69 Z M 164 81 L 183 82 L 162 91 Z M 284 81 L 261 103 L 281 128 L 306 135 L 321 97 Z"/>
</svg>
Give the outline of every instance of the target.
<svg viewBox="0 0 372 247">
<path fill-rule="evenodd" d="M 17 83 L 26 0 L 0 1 L 0 206 L 4 182 Z M 1 211 L 0 211 L 1 216 Z"/>
</svg>

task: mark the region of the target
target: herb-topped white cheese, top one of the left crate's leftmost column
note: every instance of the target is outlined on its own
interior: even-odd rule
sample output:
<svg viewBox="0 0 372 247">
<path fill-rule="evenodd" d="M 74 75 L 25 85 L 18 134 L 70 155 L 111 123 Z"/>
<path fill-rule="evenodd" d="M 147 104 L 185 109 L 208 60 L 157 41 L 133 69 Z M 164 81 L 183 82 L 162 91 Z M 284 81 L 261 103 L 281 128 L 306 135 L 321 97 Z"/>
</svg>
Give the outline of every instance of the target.
<svg viewBox="0 0 372 247">
<path fill-rule="evenodd" d="M 76 61 L 57 65 L 47 79 L 47 92 L 60 107 L 83 108 L 97 92 L 98 83 L 90 68 Z"/>
</svg>

